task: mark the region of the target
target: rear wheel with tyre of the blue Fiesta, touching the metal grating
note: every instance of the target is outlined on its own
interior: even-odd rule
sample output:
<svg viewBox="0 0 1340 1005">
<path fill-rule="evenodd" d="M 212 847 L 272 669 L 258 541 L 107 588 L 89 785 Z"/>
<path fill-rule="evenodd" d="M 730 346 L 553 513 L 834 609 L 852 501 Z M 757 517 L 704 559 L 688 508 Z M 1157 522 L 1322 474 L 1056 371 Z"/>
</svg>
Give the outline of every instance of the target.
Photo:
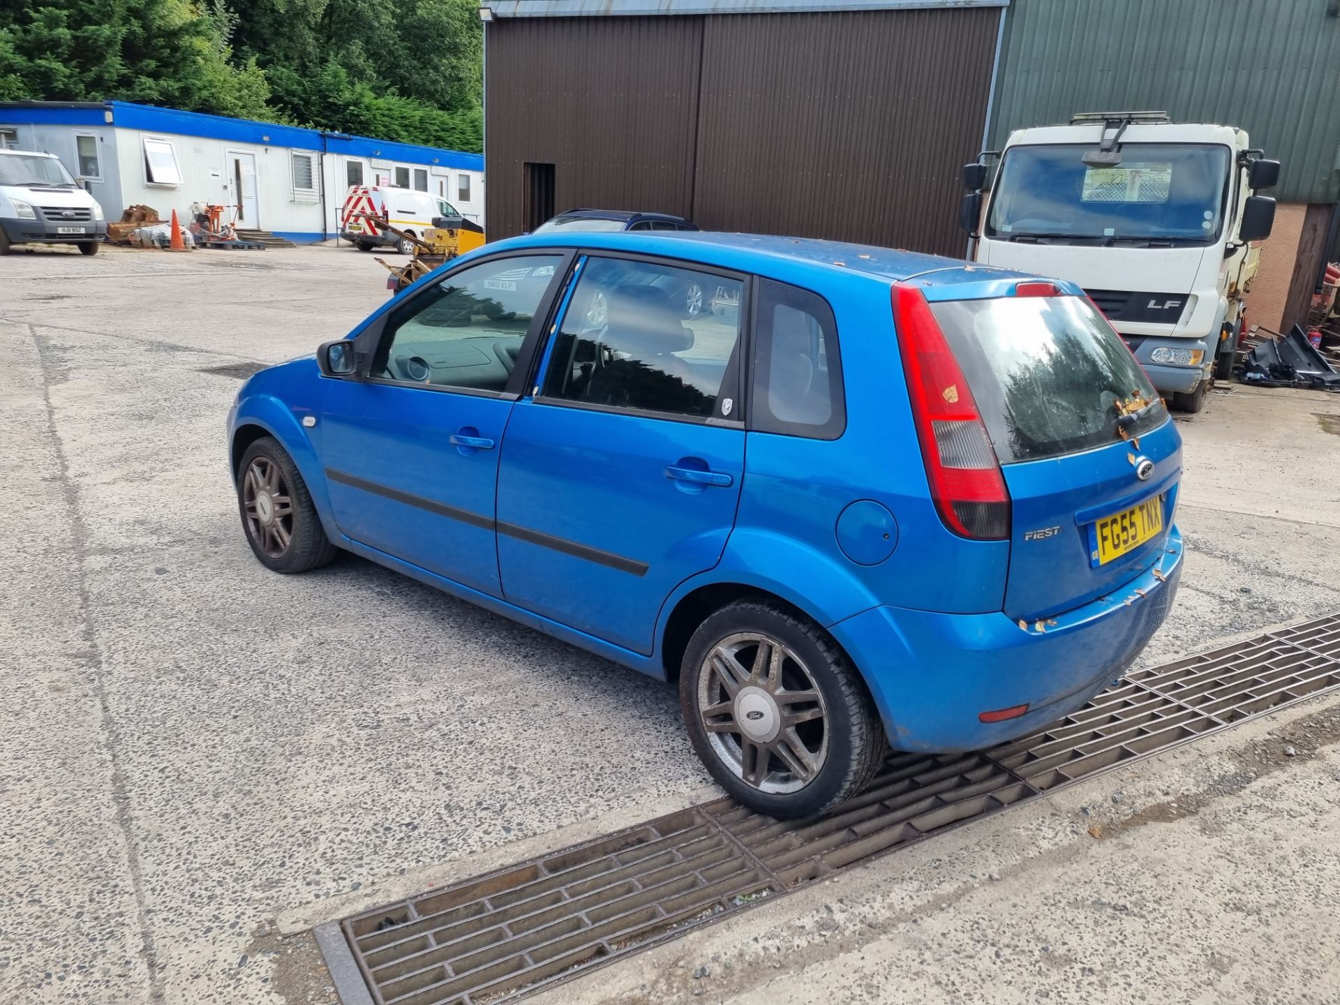
<svg viewBox="0 0 1340 1005">
<path fill-rule="evenodd" d="M 870 693 L 838 643 L 770 602 L 728 604 L 698 627 L 683 657 L 679 706 L 712 777 L 779 819 L 816 816 L 859 795 L 888 750 Z"/>
</svg>

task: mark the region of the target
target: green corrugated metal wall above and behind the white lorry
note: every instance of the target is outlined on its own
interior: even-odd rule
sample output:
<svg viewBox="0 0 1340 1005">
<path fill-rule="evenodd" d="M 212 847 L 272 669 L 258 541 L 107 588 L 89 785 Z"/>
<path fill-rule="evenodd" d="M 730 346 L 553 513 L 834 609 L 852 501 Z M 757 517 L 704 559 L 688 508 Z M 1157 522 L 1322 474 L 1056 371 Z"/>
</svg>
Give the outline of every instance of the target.
<svg viewBox="0 0 1340 1005">
<path fill-rule="evenodd" d="M 1340 201 L 1332 0 L 1012 0 L 990 146 L 1076 111 L 1160 109 L 1241 126 L 1281 202 Z"/>
</svg>

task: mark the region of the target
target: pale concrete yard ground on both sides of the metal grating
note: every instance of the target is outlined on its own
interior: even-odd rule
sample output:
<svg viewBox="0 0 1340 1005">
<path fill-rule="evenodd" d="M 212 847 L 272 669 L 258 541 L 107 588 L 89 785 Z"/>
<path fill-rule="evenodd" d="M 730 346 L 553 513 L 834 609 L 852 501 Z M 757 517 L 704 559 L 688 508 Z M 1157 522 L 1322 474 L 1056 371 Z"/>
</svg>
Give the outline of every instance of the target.
<svg viewBox="0 0 1340 1005">
<path fill-rule="evenodd" d="M 334 1002 L 311 925 L 712 795 L 665 685 L 249 553 L 208 371 L 385 296 L 347 248 L 0 260 L 0 1002 Z M 1144 662 L 1340 611 L 1340 397 L 1234 386 L 1179 429 Z M 1316 699 L 545 1000 L 1340 1002 L 1337 737 Z"/>
</svg>

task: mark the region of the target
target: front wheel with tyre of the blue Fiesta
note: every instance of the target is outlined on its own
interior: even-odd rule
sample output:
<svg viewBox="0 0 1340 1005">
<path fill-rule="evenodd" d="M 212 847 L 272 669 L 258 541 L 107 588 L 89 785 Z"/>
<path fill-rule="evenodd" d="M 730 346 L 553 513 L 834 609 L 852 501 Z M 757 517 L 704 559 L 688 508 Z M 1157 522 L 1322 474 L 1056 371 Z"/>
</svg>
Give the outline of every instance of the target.
<svg viewBox="0 0 1340 1005">
<path fill-rule="evenodd" d="M 252 552 L 272 572 L 307 572 L 339 553 L 297 465 L 273 437 L 261 437 L 243 453 L 237 512 Z"/>
</svg>

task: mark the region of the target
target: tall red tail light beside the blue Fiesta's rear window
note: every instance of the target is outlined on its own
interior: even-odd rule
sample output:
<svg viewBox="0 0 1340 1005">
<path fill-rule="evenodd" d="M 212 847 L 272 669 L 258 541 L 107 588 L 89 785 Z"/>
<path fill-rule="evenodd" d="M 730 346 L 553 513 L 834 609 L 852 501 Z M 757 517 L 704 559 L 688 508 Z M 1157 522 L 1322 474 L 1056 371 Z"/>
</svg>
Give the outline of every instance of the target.
<svg viewBox="0 0 1340 1005">
<path fill-rule="evenodd" d="M 941 520 L 962 537 L 1009 537 L 1009 492 L 1000 461 L 967 379 L 915 287 L 894 287 L 894 324 L 926 477 Z"/>
</svg>

